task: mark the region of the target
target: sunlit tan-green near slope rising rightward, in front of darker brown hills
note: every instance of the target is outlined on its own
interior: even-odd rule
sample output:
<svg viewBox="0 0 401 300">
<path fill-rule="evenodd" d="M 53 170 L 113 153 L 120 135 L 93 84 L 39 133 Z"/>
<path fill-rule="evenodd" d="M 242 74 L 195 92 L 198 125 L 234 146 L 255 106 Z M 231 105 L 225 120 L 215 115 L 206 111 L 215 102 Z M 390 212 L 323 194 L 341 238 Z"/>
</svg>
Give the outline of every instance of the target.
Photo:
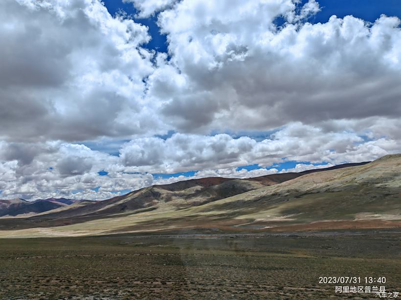
<svg viewBox="0 0 401 300">
<path fill-rule="evenodd" d="M 121 232 L 399 228 L 401 155 L 363 166 L 312 173 L 196 207 L 173 201 L 157 209 L 52 228 L 0 231 L 0 237 L 76 236 Z M 324 224 L 324 225 L 322 225 Z"/>
</svg>

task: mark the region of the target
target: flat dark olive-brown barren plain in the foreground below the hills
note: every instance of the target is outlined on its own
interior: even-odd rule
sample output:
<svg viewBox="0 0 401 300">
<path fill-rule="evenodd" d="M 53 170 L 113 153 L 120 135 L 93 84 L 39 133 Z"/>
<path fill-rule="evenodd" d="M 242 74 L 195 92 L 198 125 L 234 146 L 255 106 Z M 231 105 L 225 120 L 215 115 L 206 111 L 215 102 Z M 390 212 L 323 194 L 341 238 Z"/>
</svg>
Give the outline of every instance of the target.
<svg viewBox="0 0 401 300">
<path fill-rule="evenodd" d="M 400 248 L 397 232 L 3 239 L 0 299 L 378 299 L 319 277 L 401 291 Z"/>
</svg>

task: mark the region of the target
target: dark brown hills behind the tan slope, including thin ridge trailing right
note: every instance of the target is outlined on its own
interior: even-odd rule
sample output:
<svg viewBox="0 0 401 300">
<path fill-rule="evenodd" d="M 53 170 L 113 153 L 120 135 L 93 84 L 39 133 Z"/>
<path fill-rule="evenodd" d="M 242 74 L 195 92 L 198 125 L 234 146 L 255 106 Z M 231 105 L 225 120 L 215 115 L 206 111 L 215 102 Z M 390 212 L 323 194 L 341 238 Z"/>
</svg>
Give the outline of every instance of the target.
<svg viewBox="0 0 401 300">
<path fill-rule="evenodd" d="M 210 177 L 154 185 L 109 200 L 91 202 L 85 206 L 69 206 L 65 210 L 52 210 L 46 214 L 34 215 L 25 224 L 25 227 L 41 226 L 40 220 L 43 218 L 46 219 L 46 222 L 42 223 L 42 225 L 49 226 L 51 225 L 49 220 L 54 220 L 54 223 L 58 224 L 61 221 L 60 219 L 70 219 L 72 223 L 75 223 L 115 214 L 130 214 L 148 209 L 154 210 L 160 207 L 184 209 L 242 194 L 264 186 L 282 183 L 305 174 L 364 163 L 366 162 L 342 164 L 327 169 L 314 169 L 299 173 L 271 174 L 249 179 Z M 169 204 L 164 205 L 167 202 Z M 64 224 L 65 222 L 62 223 Z"/>
</svg>

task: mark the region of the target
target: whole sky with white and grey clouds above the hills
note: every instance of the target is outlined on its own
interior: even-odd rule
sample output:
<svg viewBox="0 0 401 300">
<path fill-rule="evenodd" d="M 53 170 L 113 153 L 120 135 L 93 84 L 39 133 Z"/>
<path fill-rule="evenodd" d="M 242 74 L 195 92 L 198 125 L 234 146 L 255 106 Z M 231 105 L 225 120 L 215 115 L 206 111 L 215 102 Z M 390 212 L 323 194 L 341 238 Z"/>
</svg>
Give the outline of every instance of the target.
<svg viewBox="0 0 401 300">
<path fill-rule="evenodd" d="M 1 198 L 401 152 L 401 1 L 295 2 L 1 1 Z"/>
</svg>

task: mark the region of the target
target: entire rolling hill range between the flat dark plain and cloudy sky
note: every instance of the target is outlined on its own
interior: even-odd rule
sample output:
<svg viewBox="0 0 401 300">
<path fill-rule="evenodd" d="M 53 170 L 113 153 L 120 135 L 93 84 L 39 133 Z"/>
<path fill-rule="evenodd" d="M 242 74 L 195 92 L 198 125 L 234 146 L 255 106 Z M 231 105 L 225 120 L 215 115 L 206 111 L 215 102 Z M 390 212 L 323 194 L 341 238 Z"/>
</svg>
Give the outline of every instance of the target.
<svg viewBox="0 0 401 300">
<path fill-rule="evenodd" d="M 317 171 L 151 186 L 13 224 L 0 219 L 0 236 L 400 228 L 400 209 L 401 155 L 390 155 Z"/>
</svg>

